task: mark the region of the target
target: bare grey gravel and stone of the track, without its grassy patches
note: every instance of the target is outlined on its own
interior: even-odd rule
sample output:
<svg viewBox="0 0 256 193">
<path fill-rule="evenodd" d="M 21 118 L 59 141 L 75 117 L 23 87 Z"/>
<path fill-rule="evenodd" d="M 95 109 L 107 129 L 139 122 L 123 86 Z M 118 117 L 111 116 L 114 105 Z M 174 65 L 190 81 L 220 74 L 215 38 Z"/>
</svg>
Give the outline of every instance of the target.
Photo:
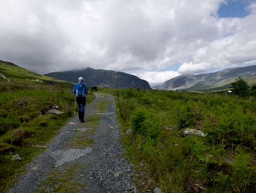
<svg viewBox="0 0 256 193">
<path fill-rule="evenodd" d="M 100 100 L 110 100 L 106 112 L 98 113 L 94 106 Z M 100 124 L 93 134 L 93 147 L 79 149 L 67 148 L 75 135 L 81 134 L 90 128 L 78 124 L 77 118 L 69 120 L 63 126 L 57 136 L 46 146 L 48 149 L 27 165 L 26 172 L 21 175 L 16 185 L 9 192 L 53 192 L 47 187 L 47 176 L 54 169 L 65 170 L 70 164 L 84 165 L 85 167 L 74 174 L 74 180 L 84 184 L 79 192 L 136 192 L 133 183 L 133 168 L 122 156 L 124 150 L 121 147 L 120 133 L 116 120 L 116 108 L 114 98 L 107 94 L 96 94 L 96 98 L 86 108 L 87 119 L 91 115 L 100 114 Z M 42 185 L 45 184 L 42 189 Z M 56 190 L 57 191 L 57 190 Z"/>
</svg>

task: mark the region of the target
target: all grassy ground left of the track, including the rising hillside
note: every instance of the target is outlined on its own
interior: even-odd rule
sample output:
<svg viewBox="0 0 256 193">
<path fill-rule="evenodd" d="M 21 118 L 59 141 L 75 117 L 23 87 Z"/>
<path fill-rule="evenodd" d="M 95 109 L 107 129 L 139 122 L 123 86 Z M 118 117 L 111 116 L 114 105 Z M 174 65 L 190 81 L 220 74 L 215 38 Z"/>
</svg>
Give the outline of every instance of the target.
<svg viewBox="0 0 256 193">
<path fill-rule="evenodd" d="M 0 61 L 0 191 L 6 191 L 17 174 L 73 115 L 73 84 L 41 76 L 12 63 Z M 88 95 L 88 102 L 93 95 Z M 61 116 L 47 115 L 59 105 Z M 22 161 L 11 161 L 19 154 Z"/>
</svg>

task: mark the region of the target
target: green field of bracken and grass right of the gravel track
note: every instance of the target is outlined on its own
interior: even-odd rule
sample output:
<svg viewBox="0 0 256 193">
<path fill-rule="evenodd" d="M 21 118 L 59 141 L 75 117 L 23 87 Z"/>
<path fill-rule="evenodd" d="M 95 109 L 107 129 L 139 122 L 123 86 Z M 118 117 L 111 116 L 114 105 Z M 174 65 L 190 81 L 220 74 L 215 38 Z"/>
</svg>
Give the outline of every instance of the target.
<svg viewBox="0 0 256 193">
<path fill-rule="evenodd" d="M 255 102 L 204 93 L 99 92 L 116 97 L 139 192 L 156 185 L 163 192 L 255 191 Z M 186 128 L 207 136 L 184 137 Z"/>
</svg>

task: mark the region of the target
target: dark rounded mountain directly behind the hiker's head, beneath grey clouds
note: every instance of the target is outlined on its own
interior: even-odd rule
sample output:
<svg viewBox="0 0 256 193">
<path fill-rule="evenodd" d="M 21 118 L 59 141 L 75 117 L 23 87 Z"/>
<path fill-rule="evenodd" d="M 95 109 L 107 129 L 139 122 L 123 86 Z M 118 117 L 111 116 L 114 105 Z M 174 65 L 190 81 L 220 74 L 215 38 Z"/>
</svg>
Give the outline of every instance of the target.
<svg viewBox="0 0 256 193">
<path fill-rule="evenodd" d="M 45 74 L 45 76 L 70 82 L 77 82 L 78 77 L 82 76 L 84 78 L 84 82 L 89 87 L 138 88 L 142 90 L 151 89 L 150 84 L 148 84 L 147 81 L 142 80 L 137 76 L 111 70 L 95 70 L 92 68 L 86 68 L 82 70 L 53 72 Z"/>
</svg>

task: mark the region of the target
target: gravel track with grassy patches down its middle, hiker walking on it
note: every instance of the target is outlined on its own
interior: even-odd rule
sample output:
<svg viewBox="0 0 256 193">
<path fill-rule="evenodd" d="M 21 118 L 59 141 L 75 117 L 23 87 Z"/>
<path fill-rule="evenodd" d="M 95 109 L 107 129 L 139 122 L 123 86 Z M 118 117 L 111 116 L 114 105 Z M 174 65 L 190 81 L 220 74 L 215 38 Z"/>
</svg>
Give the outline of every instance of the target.
<svg viewBox="0 0 256 193">
<path fill-rule="evenodd" d="M 9 192 L 134 192 L 111 95 L 96 94 L 85 123 L 71 119 Z"/>
</svg>

